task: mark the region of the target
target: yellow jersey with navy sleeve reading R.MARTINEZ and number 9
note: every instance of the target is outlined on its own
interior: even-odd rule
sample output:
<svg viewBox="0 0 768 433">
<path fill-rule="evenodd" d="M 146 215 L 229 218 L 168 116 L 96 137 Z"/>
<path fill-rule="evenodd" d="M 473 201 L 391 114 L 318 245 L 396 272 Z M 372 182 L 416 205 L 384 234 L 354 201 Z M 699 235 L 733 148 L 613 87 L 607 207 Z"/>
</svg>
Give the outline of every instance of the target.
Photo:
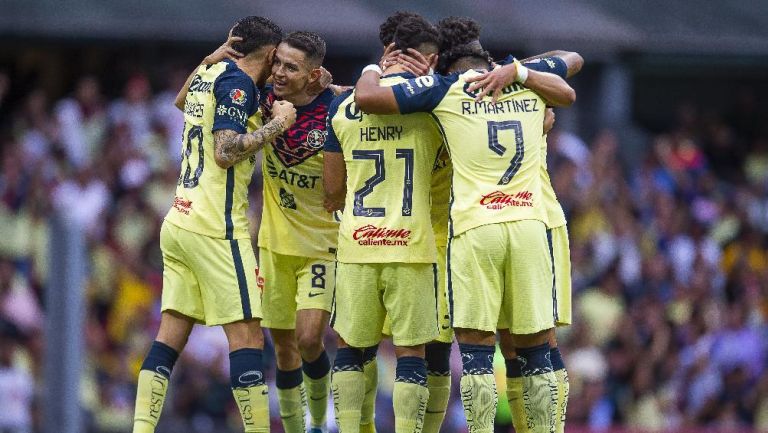
<svg viewBox="0 0 768 433">
<path fill-rule="evenodd" d="M 456 236 L 506 221 L 546 222 L 541 191 L 544 100 L 514 83 L 495 104 L 475 102 L 470 70 L 410 79 L 393 86 L 400 112 L 431 112 L 453 162 L 451 220 Z"/>
</svg>

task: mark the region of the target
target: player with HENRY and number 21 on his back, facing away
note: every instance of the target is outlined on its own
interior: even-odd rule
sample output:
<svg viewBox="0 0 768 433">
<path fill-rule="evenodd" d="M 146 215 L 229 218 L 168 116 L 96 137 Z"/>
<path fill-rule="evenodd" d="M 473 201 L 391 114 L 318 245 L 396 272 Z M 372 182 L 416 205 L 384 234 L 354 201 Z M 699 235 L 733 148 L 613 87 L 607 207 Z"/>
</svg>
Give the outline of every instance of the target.
<svg viewBox="0 0 768 433">
<path fill-rule="evenodd" d="M 439 49 L 437 30 L 420 17 L 404 19 L 394 41 L 430 58 Z M 387 68 L 385 83 L 413 77 L 403 71 Z M 346 93 L 334 101 L 325 145 L 327 209 L 345 209 L 332 319 L 342 340 L 332 378 L 336 416 L 341 433 L 359 431 L 362 349 L 379 343 L 389 316 L 397 356 L 395 431 L 418 432 L 429 398 L 424 345 L 438 336 L 430 182 L 441 138 L 427 115 L 373 116 L 354 99 Z"/>
</svg>

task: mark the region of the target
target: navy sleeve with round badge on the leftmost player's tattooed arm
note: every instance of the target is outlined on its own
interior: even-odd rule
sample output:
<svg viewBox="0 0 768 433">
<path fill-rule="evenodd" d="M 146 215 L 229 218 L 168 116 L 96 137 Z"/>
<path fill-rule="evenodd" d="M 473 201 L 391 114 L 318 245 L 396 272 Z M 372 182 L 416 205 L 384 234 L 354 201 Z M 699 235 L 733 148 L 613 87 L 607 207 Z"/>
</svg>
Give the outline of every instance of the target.
<svg viewBox="0 0 768 433">
<path fill-rule="evenodd" d="M 238 71 L 222 73 L 213 85 L 216 111 L 213 115 L 213 131 L 231 129 L 239 134 L 246 132 L 248 117 L 258 107 L 259 92 L 250 77 Z"/>
</svg>

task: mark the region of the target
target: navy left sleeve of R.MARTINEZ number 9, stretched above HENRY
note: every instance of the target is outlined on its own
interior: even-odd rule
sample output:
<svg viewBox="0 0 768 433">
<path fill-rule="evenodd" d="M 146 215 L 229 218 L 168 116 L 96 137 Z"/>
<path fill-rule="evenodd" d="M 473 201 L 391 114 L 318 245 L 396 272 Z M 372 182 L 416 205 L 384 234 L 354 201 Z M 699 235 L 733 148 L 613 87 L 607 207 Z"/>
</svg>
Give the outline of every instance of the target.
<svg viewBox="0 0 768 433">
<path fill-rule="evenodd" d="M 425 75 L 392 86 L 401 114 L 430 112 L 443 100 L 458 74 Z"/>
</svg>

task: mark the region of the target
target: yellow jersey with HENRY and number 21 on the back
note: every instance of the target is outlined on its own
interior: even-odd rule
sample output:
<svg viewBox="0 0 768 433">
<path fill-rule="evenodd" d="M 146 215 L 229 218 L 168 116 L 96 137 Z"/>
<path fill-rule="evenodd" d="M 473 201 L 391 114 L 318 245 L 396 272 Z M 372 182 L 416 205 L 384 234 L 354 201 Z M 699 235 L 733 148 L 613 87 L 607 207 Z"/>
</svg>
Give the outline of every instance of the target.
<svg viewBox="0 0 768 433">
<path fill-rule="evenodd" d="M 391 75 L 384 85 L 410 74 Z M 442 144 L 426 114 L 370 115 L 339 96 L 329 111 L 326 152 L 343 152 L 347 196 L 337 259 L 344 263 L 434 263 L 430 183 Z"/>
</svg>

